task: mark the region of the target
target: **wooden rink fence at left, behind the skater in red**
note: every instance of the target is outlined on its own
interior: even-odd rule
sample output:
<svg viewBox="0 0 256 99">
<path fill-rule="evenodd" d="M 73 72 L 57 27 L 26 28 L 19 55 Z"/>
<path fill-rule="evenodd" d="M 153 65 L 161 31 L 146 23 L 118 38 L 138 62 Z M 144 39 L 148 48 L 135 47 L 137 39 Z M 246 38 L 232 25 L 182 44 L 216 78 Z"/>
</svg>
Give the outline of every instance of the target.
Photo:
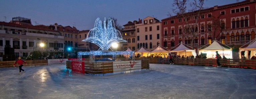
<svg viewBox="0 0 256 99">
<path fill-rule="evenodd" d="M 16 61 L 16 60 L 15 60 Z M 15 61 L 2 61 L 0 62 L 0 68 L 2 67 L 13 67 L 13 64 Z M 24 64 L 23 66 L 39 66 L 39 65 L 48 65 L 48 60 L 25 60 L 27 64 Z M 16 64 L 16 66 L 18 66 Z"/>
</svg>

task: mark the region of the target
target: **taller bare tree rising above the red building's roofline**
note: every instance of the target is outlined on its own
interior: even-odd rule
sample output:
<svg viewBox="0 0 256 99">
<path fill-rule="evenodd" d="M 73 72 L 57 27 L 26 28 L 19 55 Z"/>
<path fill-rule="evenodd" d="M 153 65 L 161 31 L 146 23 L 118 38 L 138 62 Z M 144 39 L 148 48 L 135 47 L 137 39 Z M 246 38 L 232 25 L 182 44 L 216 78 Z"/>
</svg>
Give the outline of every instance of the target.
<svg viewBox="0 0 256 99">
<path fill-rule="evenodd" d="M 183 29 L 184 36 L 191 37 L 191 47 L 194 46 L 194 39 L 198 36 L 199 33 L 198 20 L 199 16 L 201 16 L 202 10 L 204 9 L 204 1 L 205 0 L 174 0 L 173 3 L 173 6 L 176 8 L 172 9 L 172 11 L 177 14 L 177 17 L 182 17 L 185 21 L 185 24 L 183 24 L 183 26 L 185 26 Z M 188 9 L 188 6 L 191 8 Z M 188 22 L 188 20 L 190 21 Z"/>
</svg>

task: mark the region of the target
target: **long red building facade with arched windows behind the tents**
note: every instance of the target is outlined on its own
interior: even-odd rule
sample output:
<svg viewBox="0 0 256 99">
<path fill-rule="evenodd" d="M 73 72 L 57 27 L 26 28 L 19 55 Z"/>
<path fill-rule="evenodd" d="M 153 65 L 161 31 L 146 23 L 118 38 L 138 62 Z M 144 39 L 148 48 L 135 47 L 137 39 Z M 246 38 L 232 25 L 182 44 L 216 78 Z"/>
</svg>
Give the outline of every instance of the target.
<svg viewBox="0 0 256 99">
<path fill-rule="evenodd" d="M 246 0 L 202 10 L 194 26 L 198 33 L 194 37 L 194 48 L 198 49 L 215 39 L 233 48 L 253 40 L 256 29 L 255 5 L 256 0 Z M 191 12 L 187 14 L 191 15 L 186 19 L 188 24 L 193 24 L 195 17 L 192 17 Z M 173 16 L 161 21 L 162 46 L 173 48 L 180 42 L 191 46 L 192 36 L 183 17 Z"/>
</svg>

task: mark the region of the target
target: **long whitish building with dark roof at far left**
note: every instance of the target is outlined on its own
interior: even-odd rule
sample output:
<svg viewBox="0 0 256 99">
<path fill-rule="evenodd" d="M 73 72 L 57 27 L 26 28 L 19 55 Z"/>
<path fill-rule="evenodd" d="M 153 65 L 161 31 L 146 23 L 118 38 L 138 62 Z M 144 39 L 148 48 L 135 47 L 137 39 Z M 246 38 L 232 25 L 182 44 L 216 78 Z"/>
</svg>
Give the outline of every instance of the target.
<svg viewBox="0 0 256 99">
<path fill-rule="evenodd" d="M 62 33 L 44 25 L 33 26 L 30 19 L 20 19 L 20 21 L 12 20 L 9 23 L 0 22 L 0 57 L 7 55 L 5 47 L 14 48 L 15 57 L 27 57 L 33 51 L 52 55 L 64 52 Z M 39 46 L 41 43 L 45 46 Z"/>
</svg>

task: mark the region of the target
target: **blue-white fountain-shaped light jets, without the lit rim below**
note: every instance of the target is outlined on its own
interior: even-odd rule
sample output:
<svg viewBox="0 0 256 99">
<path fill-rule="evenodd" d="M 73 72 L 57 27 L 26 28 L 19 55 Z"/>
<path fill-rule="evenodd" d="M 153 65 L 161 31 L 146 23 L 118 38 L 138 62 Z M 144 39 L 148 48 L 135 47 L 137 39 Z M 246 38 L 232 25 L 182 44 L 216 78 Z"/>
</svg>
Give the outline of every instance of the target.
<svg viewBox="0 0 256 99">
<path fill-rule="evenodd" d="M 123 40 L 121 33 L 116 30 L 114 20 L 109 18 L 108 25 L 106 25 L 105 18 L 103 24 L 100 18 L 97 18 L 94 28 L 89 31 L 87 38 L 82 41 L 92 42 L 98 45 L 103 51 L 107 51 L 113 43 L 127 42 Z"/>
</svg>

